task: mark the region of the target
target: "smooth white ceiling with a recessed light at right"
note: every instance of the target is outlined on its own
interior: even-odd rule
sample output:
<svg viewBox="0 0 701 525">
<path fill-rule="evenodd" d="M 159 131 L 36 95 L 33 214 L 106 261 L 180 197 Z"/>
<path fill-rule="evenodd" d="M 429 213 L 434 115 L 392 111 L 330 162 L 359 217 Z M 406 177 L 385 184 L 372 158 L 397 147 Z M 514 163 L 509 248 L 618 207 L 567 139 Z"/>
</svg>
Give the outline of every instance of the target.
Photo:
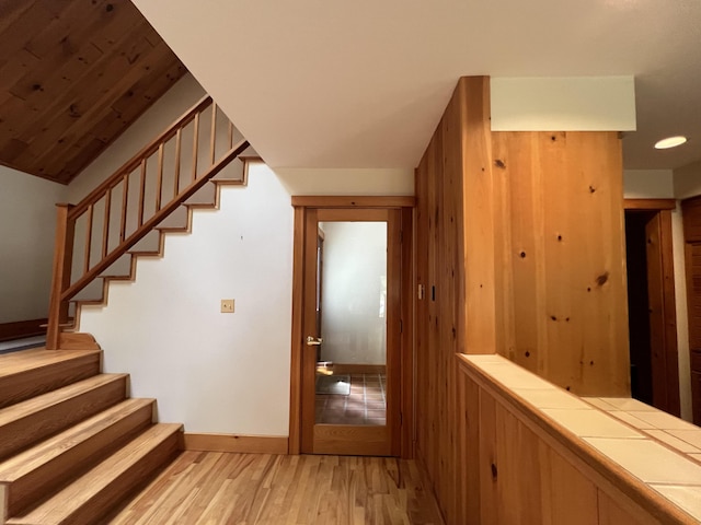
<svg viewBox="0 0 701 525">
<path fill-rule="evenodd" d="M 414 167 L 472 74 L 633 74 L 625 167 L 701 159 L 699 0 L 133 1 L 275 167 Z"/>
</svg>

